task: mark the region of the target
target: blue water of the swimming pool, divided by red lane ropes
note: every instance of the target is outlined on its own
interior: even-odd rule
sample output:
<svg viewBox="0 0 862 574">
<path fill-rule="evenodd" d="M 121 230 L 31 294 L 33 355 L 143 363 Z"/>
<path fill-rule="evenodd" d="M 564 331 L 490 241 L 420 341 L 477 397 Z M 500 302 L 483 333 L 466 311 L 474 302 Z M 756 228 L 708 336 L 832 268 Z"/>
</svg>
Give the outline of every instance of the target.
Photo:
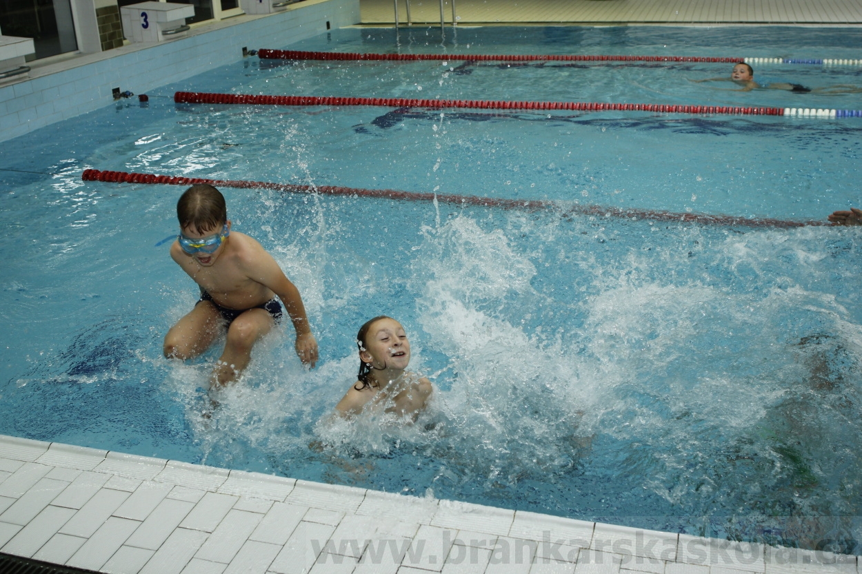
<svg viewBox="0 0 862 574">
<path fill-rule="evenodd" d="M 402 32 L 400 49 L 723 56 L 742 46 L 743 56 L 850 58 L 860 33 L 462 28 L 445 47 L 439 34 Z M 395 38 L 348 29 L 291 47 L 384 52 Z M 303 371 L 290 332 L 275 334 L 205 421 L 214 353 L 183 366 L 160 356 L 197 298 L 166 253 L 182 188 L 80 181 L 97 168 L 794 221 L 858 204 L 853 118 L 170 99 L 201 90 L 859 108 L 859 95 L 686 81 L 728 67 L 246 59 L 154 91 L 147 107 L 118 103 L 10 142 L 0 153 L 0 433 L 637 527 L 809 547 L 859 539 L 855 229 L 225 189 L 236 228 L 303 293 L 323 359 Z M 757 74 L 862 84 L 848 67 Z M 355 375 L 355 331 L 379 313 L 407 328 L 438 408 L 409 428 L 330 424 Z"/>
</svg>

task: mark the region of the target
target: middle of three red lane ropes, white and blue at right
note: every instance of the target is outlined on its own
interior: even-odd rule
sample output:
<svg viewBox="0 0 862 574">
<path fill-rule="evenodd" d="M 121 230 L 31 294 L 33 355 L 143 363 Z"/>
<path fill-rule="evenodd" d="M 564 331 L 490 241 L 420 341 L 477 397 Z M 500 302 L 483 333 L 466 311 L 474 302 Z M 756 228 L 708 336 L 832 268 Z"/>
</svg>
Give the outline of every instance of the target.
<svg viewBox="0 0 862 574">
<path fill-rule="evenodd" d="M 803 117 L 862 117 L 862 110 L 812 108 L 744 108 L 740 106 L 693 106 L 660 103 L 603 102 L 513 102 L 509 100 L 423 100 L 408 97 L 253 96 L 178 91 L 175 103 L 235 103 L 273 106 L 381 106 L 387 108 L 472 108 L 575 111 L 647 111 L 665 114 L 707 115 L 801 115 Z"/>
</svg>

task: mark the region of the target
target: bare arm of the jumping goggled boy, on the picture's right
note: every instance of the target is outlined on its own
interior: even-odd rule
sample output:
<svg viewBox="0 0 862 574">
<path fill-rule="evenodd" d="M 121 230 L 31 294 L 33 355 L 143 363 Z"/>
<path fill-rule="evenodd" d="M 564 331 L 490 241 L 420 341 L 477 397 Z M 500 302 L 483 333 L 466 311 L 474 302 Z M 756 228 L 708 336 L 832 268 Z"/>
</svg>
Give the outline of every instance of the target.
<svg viewBox="0 0 862 574">
<path fill-rule="evenodd" d="M 314 367 L 317 363 L 317 341 L 311 334 L 303 297 L 299 295 L 297 286 L 290 282 L 290 279 L 284 275 L 284 271 L 281 271 L 275 259 L 272 259 L 272 255 L 266 253 L 263 247 L 259 247 L 259 250 L 260 253 L 254 258 L 256 260 L 250 262 L 253 265 L 253 272 L 249 273 L 249 277 L 272 290 L 284 303 L 284 309 L 290 315 L 293 328 L 297 331 L 297 355 L 305 365 Z"/>
</svg>

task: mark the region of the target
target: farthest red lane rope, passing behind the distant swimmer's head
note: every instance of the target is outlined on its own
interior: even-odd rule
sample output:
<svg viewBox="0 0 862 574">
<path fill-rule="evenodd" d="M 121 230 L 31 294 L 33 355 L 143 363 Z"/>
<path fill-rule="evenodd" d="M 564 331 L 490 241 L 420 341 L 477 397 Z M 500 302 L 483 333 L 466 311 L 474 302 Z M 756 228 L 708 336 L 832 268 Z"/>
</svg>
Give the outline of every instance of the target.
<svg viewBox="0 0 862 574">
<path fill-rule="evenodd" d="M 740 58 L 714 56 L 645 56 L 609 54 L 453 54 L 453 53 L 369 53 L 309 52 L 260 48 L 260 59 L 386 60 L 386 61 L 472 61 L 472 62 L 715 62 L 735 64 L 811 64 L 819 66 L 860 66 L 862 59 L 840 58 Z"/>
</svg>

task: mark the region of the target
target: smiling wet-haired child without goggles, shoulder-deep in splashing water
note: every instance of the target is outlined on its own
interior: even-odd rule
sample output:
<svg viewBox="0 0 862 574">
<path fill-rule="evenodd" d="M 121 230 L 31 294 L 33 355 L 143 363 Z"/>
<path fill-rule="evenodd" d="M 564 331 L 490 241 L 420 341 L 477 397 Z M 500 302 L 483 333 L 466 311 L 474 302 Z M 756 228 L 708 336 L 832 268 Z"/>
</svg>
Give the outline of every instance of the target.
<svg viewBox="0 0 862 574">
<path fill-rule="evenodd" d="M 410 343 L 401 323 L 381 315 L 367 321 L 356 335 L 359 380 L 335 405 L 342 416 L 358 415 L 368 405 L 384 405 L 385 412 L 414 419 L 425 408 L 434 385 L 406 371 Z"/>
</svg>

